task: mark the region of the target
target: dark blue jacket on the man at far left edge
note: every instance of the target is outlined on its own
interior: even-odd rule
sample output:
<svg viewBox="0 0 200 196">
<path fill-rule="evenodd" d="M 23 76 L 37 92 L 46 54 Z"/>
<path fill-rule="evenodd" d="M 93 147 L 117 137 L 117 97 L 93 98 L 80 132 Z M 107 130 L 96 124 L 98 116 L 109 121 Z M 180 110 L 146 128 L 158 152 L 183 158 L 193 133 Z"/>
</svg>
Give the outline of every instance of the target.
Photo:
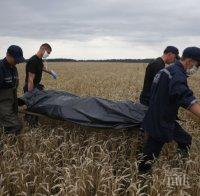
<svg viewBox="0 0 200 196">
<path fill-rule="evenodd" d="M 11 66 L 6 58 L 0 60 L 0 90 L 16 88 L 18 86 L 18 72 Z"/>
</svg>

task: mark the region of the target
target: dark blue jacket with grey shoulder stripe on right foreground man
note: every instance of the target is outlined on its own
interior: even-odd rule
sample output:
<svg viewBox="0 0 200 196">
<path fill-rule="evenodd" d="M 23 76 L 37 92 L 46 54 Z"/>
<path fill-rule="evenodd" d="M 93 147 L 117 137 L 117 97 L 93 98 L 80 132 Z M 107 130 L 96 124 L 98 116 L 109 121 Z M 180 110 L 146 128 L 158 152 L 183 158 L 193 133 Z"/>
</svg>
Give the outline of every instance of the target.
<svg viewBox="0 0 200 196">
<path fill-rule="evenodd" d="M 155 76 L 142 128 L 154 139 L 169 142 L 173 140 L 179 107 L 188 109 L 196 101 L 183 65 L 176 62 Z"/>
</svg>

